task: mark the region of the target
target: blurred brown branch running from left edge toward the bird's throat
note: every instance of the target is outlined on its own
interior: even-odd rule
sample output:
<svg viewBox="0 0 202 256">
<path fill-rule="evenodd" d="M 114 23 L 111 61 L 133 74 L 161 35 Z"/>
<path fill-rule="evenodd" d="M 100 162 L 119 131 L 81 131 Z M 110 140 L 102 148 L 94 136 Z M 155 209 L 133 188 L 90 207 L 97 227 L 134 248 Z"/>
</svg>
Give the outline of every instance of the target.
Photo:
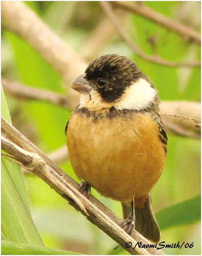
<svg viewBox="0 0 202 256">
<path fill-rule="evenodd" d="M 43 100 L 51 102 L 64 108 L 71 109 L 67 96 L 64 94 L 43 90 L 32 86 L 24 86 L 18 82 L 2 78 L 4 91 L 9 95 L 24 100 Z"/>
</svg>

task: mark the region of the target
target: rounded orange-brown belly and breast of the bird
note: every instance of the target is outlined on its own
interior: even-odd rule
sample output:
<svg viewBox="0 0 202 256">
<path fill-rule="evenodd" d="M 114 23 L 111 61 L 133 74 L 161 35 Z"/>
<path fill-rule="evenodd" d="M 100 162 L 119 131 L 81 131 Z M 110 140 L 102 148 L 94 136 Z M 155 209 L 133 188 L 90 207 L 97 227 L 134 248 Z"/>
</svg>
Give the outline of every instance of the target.
<svg viewBox="0 0 202 256">
<path fill-rule="evenodd" d="M 67 130 L 71 165 L 78 178 L 100 194 L 121 202 L 144 197 L 159 179 L 164 145 L 146 114 L 92 121 L 74 113 Z"/>
</svg>

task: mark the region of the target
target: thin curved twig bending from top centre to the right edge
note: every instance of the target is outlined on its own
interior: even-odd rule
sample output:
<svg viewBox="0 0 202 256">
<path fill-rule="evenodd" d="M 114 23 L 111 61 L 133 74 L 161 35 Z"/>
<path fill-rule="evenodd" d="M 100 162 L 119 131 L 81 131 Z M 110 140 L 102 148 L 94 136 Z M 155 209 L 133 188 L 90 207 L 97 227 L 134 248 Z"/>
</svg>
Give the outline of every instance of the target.
<svg viewBox="0 0 202 256">
<path fill-rule="evenodd" d="M 114 3 L 114 2 L 111 2 Z M 200 61 L 195 61 L 195 62 L 176 62 L 176 61 L 170 61 L 166 59 L 162 59 L 160 56 L 150 56 L 142 52 L 135 44 L 134 42 L 130 39 L 130 37 L 125 33 L 124 29 L 122 28 L 119 20 L 115 16 L 113 9 L 109 2 L 107 1 L 102 1 L 100 4 L 103 6 L 103 9 L 111 19 L 111 22 L 113 23 L 117 33 L 119 36 L 122 38 L 123 41 L 141 58 L 144 58 L 150 62 L 157 63 L 158 65 L 164 65 L 164 66 L 170 66 L 170 67 L 199 67 L 200 66 Z"/>
</svg>

